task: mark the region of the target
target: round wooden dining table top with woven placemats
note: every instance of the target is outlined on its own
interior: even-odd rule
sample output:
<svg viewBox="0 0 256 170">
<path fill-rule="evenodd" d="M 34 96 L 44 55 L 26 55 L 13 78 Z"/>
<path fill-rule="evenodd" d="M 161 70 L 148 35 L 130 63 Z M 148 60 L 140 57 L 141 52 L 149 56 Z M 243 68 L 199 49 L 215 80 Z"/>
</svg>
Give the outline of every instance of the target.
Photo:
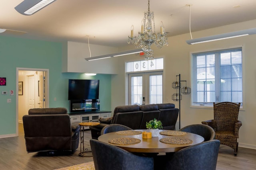
<svg viewBox="0 0 256 170">
<path fill-rule="evenodd" d="M 139 129 L 135 131 L 149 131 L 148 129 Z M 159 130 L 161 131 L 167 131 L 167 130 Z M 132 144 L 132 145 L 117 145 L 109 143 L 108 141 L 115 138 L 136 138 L 140 139 L 140 143 Z M 190 144 L 166 144 L 160 142 L 160 139 L 162 138 L 184 138 L 184 139 L 190 139 L 192 140 L 192 143 Z M 182 136 L 169 136 L 169 135 L 161 135 L 159 134 L 158 137 L 152 137 L 149 139 L 142 138 L 142 134 L 140 135 L 118 135 L 116 132 L 106 133 L 104 135 L 100 135 L 98 137 L 99 141 L 108 143 L 110 145 L 115 145 L 117 147 L 120 147 L 124 150 L 127 150 L 129 152 L 144 152 L 144 153 L 158 153 L 158 152 L 176 152 L 180 149 L 183 149 L 185 147 L 189 147 L 191 145 L 196 145 L 198 143 L 202 143 L 204 141 L 204 138 L 200 135 L 196 135 L 194 133 L 186 133 L 186 135 Z"/>
</svg>

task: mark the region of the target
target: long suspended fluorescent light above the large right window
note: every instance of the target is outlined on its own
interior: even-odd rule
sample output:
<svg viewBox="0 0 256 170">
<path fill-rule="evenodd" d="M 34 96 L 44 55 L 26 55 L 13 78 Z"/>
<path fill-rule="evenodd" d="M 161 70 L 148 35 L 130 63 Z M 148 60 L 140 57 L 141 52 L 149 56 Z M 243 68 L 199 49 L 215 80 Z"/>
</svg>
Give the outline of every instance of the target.
<svg viewBox="0 0 256 170">
<path fill-rule="evenodd" d="M 256 34 L 256 28 L 244 29 L 241 31 L 235 31 L 235 32 L 230 32 L 230 33 L 224 33 L 224 34 L 212 35 L 212 36 L 208 36 L 208 37 L 191 39 L 191 40 L 187 40 L 186 43 L 188 43 L 188 44 L 206 43 L 206 42 L 210 42 L 210 41 L 217 41 L 217 40 L 221 40 L 221 39 L 229 39 L 229 38 L 234 38 L 234 37 L 242 37 L 242 36 L 252 35 L 252 34 Z"/>
</svg>

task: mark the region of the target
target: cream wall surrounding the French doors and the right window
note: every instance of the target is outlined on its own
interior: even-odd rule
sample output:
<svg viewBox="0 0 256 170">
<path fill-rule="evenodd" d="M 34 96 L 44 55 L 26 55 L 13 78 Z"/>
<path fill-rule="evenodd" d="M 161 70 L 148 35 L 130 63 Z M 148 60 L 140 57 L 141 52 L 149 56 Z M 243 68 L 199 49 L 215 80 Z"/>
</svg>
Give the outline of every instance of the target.
<svg viewBox="0 0 256 170">
<path fill-rule="evenodd" d="M 246 21 L 243 23 L 236 23 L 217 27 L 214 29 L 207 29 L 192 33 L 193 38 L 199 38 L 214 34 L 227 33 L 238 31 L 242 29 L 249 29 L 256 27 L 256 20 Z M 233 39 L 226 39 L 220 41 L 213 41 L 209 43 L 201 43 L 197 45 L 188 45 L 186 40 L 190 39 L 190 34 L 183 34 L 174 37 L 169 37 L 169 46 L 154 49 L 154 57 L 164 58 L 164 100 L 163 102 L 171 102 L 178 107 L 178 102 L 172 101 L 172 94 L 176 90 L 172 89 L 172 82 L 176 80 L 176 75 L 181 74 L 181 80 L 187 80 L 190 85 L 190 52 L 194 51 L 208 51 L 220 48 L 228 48 L 237 45 L 244 45 L 244 108 L 240 110 L 238 119 L 242 121 L 238 139 L 240 147 L 249 147 L 256 149 L 256 35 L 249 35 L 245 37 L 238 37 Z M 127 50 L 131 45 L 120 48 L 119 51 Z M 141 60 L 138 56 L 130 55 L 118 58 L 119 74 L 112 76 L 112 109 L 118 105 L 125 105 L 125 65 L 126 61 Z M 182 95 L 181 101 L 181 127 L 186 125 L 201 123 L 202 121 L 213 119 L 212 108 L 192 108 L 190 107 L 190 96 Z"/>
</svg>

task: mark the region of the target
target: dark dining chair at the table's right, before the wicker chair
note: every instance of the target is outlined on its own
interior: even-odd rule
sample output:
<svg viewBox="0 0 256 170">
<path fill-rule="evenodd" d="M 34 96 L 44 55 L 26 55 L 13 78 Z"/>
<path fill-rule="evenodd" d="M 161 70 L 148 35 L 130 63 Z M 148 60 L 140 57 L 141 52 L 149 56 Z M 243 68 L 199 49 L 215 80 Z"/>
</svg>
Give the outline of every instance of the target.
<svg viewBox="0 0 256 170">
<path fill-rule="evenodd" d="M 215 139 L 215 131 L 212 127 L 203 124 L 188 125 L 180 129 L 180 131 L 195 133 L 204 137 L 204 141 Z"/>
</svg>

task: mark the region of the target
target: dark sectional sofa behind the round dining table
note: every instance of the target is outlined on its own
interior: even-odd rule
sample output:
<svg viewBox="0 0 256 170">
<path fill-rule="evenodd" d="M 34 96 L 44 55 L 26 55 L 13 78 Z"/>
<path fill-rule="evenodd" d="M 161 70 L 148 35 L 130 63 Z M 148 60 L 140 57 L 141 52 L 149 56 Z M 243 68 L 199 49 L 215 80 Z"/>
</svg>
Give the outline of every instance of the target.
<svg viewBox="0 0 256 170">
<path fill-rule="evenodd" d="M 99 119 L 100 125 L 90 126 L 92 139 L 98 139 L 102 128 L 108 124 L 121 124 L 131 129 L 146 129 L 146 122 L 156 118 L 162 121 L 163 129 L 174 130 L 179 109 L 174 104 L 148 104 L 117 106 L 113 117 Z"/>
</svg>

